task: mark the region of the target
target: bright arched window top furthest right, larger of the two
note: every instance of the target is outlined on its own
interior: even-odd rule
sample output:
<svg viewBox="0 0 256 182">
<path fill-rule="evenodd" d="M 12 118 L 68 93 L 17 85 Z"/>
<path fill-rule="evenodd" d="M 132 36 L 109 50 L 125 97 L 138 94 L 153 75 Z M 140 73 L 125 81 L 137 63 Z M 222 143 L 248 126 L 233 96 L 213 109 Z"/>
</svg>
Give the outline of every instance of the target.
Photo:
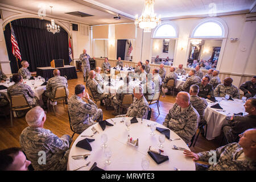
<svg viewBox="0 0 256 182">
<path fill-rule="evenodd" d="M 207 21 L 200 23 L 193 31 L 193 38 L 223 38 L 224 27 L 220 22 Z"/>
</svg>

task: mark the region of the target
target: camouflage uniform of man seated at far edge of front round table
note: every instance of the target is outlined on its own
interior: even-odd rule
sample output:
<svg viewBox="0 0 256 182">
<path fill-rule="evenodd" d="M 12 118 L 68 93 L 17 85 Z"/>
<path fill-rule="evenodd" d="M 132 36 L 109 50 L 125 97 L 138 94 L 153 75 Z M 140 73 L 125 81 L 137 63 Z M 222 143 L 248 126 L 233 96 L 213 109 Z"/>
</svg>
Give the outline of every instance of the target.
<svg viewBox="0 0 256 182">
<path fill-rule="evenodd" d="M 126 114 L 117 115 L 116 118 L 119 117 L 136 117 L 147 119 L 149 105 L 144 96 L 142 96 L 139 100 L 134 97 L 133 104 L 130 105 Z"/>
</svg>

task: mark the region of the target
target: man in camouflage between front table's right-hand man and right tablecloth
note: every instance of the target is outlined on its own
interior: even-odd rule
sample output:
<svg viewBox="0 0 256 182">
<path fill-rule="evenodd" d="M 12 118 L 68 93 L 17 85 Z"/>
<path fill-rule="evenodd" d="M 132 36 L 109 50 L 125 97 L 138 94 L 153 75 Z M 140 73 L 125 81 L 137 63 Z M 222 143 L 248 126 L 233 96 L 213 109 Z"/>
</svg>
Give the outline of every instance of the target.
<svg viewBox="0 0 256 182">
<path fill-rule="evenodd" d="M 197 113 L 200 115 L 199 125 L 204 123 L 204 110 L 208 106 L 205 98 L 200 98 L 197 96 L 199 93 L 199 86 L 191 85 L 189 94 L 190 94 L 190 103 L 196 109 Z"/>
</svg>

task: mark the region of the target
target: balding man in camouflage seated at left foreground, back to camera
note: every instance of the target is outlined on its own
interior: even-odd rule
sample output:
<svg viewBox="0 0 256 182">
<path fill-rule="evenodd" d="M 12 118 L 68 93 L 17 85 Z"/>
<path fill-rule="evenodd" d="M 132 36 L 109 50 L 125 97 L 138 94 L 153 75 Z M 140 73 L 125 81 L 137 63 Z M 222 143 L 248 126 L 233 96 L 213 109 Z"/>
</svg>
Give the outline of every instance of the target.
<svg viewBox="0 0 256 182">
<path fill-rule="evenodd" d="M 59 138 L 44 129 L 46 114 L 40 106 L 27 112 L 26 121 L 28 127 L 20 134 L 19 143 L 35 171 L 66 170 L 71 137 Z"/>
</svg>

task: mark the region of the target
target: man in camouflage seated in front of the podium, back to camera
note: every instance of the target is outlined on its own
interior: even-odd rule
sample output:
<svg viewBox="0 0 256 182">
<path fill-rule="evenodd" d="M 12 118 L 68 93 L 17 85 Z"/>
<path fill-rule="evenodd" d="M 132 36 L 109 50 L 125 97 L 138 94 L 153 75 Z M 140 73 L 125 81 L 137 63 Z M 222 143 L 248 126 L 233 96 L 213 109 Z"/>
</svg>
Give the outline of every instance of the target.
<svg viewBox="0 0 256 182">
<path fill-rule="evenodd" d="M 49 78 L 47 81 L 46 85 L 46 91 L 42 94 L 42 99 L 44 102 L 44 108 L 47 109 L 47 100 L 48 98 L 53 99 L 55 95 L 55 90 L 58 86 L 65 86 L 65 90 L 67 93 L 67 98 L 68 98 L 68 80 L 64 76 L 60 76 L 60 71 L 59 69 L 53 70 L 53 75 L 54 77 Z M 67 98 L 65 100 L 65 104 L 68 104 Z"/>
</svg>

